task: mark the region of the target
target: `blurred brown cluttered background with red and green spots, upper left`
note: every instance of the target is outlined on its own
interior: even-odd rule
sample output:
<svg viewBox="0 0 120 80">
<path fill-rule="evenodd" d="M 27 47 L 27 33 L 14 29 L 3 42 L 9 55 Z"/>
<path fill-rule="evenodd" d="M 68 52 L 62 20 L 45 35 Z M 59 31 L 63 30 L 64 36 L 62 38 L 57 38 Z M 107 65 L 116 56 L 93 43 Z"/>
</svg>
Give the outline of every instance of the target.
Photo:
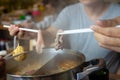
<svg viewBox="0 0 120 80">
<path fill-rule="evenodd" d="M 4 24 L 20 24 L 26 20 L 37 23 L 48 15 L 59 14 L 65 6 L 76 2 L 78 0 L 0 0 L 0 50 L 6 50 L 6 44 L 7 48 L 13 46 L 13 37 L 3 28 Z M 45 26 L 48 23 L 41 24 Z"/>
</svg>

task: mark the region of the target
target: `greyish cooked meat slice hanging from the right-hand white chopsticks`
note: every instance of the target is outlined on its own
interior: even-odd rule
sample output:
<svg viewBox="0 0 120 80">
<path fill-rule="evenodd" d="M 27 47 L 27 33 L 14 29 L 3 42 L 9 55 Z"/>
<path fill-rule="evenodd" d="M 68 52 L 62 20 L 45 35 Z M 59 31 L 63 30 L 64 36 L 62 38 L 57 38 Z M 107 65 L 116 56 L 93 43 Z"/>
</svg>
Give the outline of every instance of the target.
<svg viewBox="0 0 120 80">
<path fill-rule="evenodd" d="M 58 33 L 59 32 L 63 32 L 63 30 L 58 30 Z M 63 35 L 56 35 L 55 49 L 56 50 L 63 49 Z"/>
</svg>

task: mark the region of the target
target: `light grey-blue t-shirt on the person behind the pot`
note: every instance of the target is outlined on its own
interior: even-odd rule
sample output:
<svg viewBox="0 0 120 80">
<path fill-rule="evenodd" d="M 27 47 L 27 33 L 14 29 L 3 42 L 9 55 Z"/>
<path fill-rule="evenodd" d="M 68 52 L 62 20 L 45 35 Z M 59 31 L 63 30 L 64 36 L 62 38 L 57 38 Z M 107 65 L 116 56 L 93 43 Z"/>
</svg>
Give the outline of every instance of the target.
<svg viewBox="0 0 120 80">
<path fill-rule="evenodd" d="M 111 19 L 117 16 L 120 16 L 120 5 L 113 3 L 99 19 Z M 77 3 L 63 9 L 52 26 L 63 30 L 72 30 L 89 28 L 90 25 L 93 24 L 95 24 L 95 22 L 90 20 L 83 5 Z M 98 45 L 93 33 L 65 35 L 64 38 L 65 48 L 82 52 L 86 60 L 103 58 L 110 52 L 110 50 Z"/>
</svg>

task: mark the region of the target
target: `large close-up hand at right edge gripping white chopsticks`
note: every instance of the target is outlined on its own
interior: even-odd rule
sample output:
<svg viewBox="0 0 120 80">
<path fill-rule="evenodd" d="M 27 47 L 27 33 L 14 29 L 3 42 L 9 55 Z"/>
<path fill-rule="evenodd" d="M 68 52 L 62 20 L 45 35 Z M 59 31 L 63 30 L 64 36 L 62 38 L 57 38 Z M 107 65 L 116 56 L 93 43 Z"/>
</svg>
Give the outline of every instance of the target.
<svg viewBox="0 0 120 80">
<path fill-rule="evenodd" d="M 120 24 L 120 17 L 97 21 L 96 25 L 91 27 L 100 46 L 120 52 L 120 28 L 115 27 L 118 24 Z"/>
</svg>

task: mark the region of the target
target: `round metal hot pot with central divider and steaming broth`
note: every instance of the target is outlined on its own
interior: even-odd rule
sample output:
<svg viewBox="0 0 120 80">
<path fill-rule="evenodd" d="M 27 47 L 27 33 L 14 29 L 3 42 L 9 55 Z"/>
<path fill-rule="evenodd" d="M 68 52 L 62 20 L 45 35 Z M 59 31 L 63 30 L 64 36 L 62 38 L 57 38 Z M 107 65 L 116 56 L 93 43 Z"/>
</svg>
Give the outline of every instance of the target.
<svg viewBox="0 0 120 80">
<path fill-rule="evenodd" d="M 82 76 L 85 78 L 90 73 L 101 69 L 99 66 L 102 65 L 98 60 L 97 66 L 93 63 L 93 68 L 90 67 L 91 69 L 83 71 L 86 64 L 87 66 L 91 64 L 85 62 L 82 53 L 69 49 L 56 51 L 52 48 L 44 49 L 43 54 L 29 52 L 27 59 L 21 62 L 11 59 L 6 63 L 8 80 L 80 80 L 81 72 L 86 73 Z M 25 73 L 19 75 L 21 70 Z M 30 70 L 32 72 L 29 72 Z M 26 75 L 26 72 L 29 74 Z"/>
</svg>

